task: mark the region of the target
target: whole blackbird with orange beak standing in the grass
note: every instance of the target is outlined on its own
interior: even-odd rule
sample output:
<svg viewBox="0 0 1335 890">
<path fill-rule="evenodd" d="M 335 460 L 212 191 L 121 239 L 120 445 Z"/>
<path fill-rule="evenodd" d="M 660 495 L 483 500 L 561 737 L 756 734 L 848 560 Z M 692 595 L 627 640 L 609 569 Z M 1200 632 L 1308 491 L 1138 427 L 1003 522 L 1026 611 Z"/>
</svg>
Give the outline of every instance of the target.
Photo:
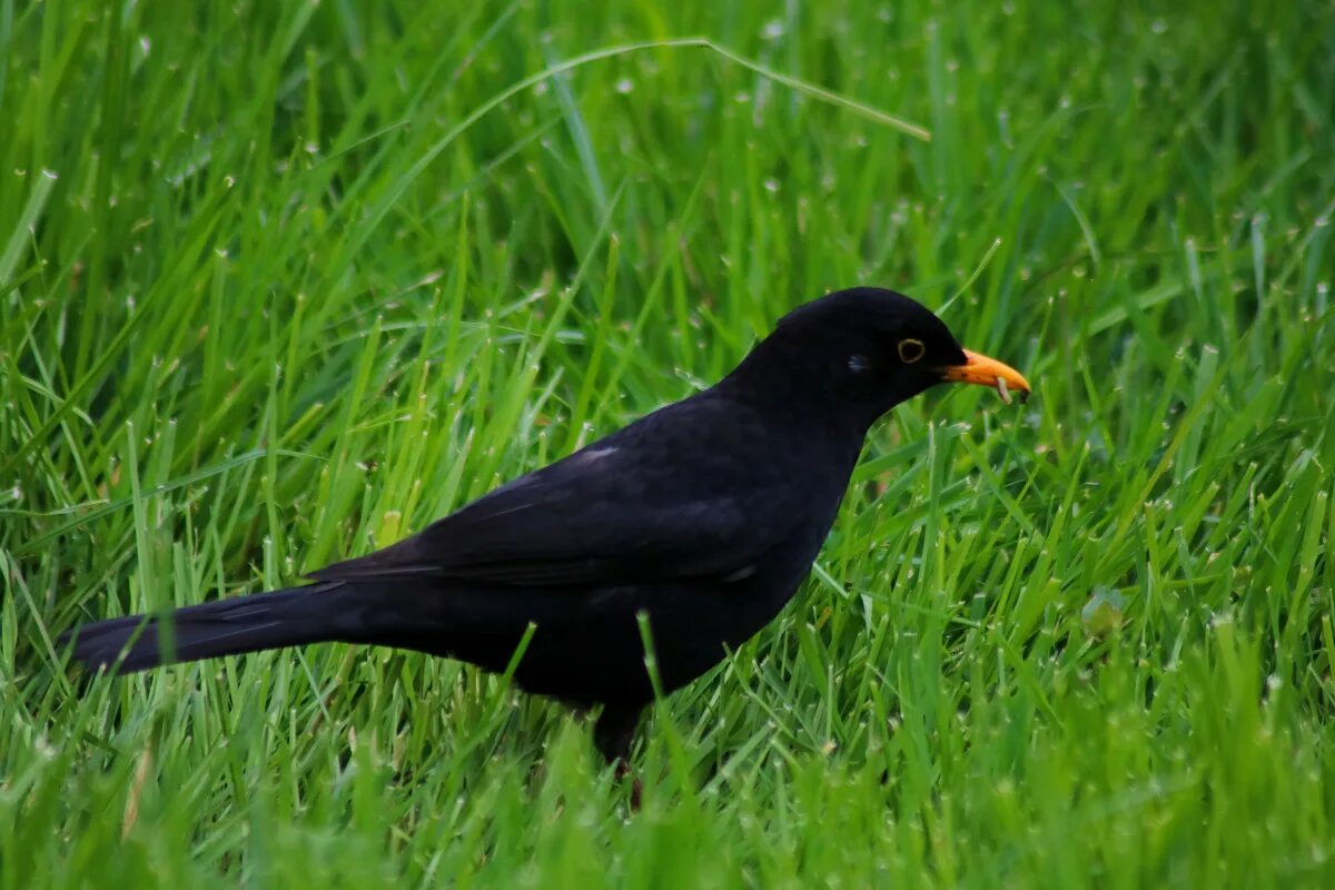
<svg viewBox="0 0 1335 890">
<path fill-rule="evenodd" d="M 395 646 L 514 673 L 525 690 L 601 705 L 594 739 L 625 763 L 653 699 L 764 627 L 806 576 L 862 439 L 892 407 L 955 380 L 1029 392 L 961 348 L 912 299 L 854 288 L 782 320 L 716 386 L 515 479 L 311 583 L 67 631 L 89 667 L 326 640 Z"/>
</svg>

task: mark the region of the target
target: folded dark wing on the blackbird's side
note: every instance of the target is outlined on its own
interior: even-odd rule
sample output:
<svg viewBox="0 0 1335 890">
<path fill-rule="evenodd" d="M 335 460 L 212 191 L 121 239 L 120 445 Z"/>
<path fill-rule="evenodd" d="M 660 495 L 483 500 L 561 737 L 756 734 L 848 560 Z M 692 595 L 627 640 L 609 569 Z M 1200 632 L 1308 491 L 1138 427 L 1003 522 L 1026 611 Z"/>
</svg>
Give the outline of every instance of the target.
<svg viewBox="0 0 1335 890">
<path fill-rule="evenodd" d="M 709 419 L 701 411 L 650 415 L 312 576 L 565 586 L 749 574 L 797 524 L 798 498 L 790 478 L 738 448 L 736 426 L 692 423 Z"/>
</svg>

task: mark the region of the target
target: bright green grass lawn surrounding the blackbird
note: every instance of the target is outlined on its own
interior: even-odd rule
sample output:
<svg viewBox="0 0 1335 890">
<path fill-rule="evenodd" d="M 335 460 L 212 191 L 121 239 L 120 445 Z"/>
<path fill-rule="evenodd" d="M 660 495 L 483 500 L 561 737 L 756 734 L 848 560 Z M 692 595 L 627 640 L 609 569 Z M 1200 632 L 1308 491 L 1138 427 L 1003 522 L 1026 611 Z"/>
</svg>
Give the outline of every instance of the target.
<svg viewBox="0 0 1335 890">
<path fill-rule="evenodd" d="M 1330 886 L 1328 4 L 108 5 L 0 0 L 0 887 Z M 688 36 L 740 60 L 523 87 Z M 638 815 L 457 663 L 55 648 L 858 283 L 1037 396 L 877 427 L 796 602 L 646 721 Z"/>
</svg>

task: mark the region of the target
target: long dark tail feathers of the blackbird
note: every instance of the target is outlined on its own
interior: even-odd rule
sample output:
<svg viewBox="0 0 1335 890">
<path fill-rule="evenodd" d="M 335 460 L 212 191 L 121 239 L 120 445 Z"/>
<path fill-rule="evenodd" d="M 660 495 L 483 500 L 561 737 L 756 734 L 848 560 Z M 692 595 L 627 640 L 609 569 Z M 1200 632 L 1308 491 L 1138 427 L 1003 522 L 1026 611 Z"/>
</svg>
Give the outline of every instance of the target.
<svg viewBox="0 0 1335 890">
<path fill-rule="evenodd" d="M 120 674 L 172 662 L 195 662 L 266 648 L 328 640 L 376 642 L 376 624 L 394 612 L 378 608 L 383 591 L 342 582 L 232 596 L 167 615 L 129 615 L 65 631 L 87 667 Z"/>
</svg>

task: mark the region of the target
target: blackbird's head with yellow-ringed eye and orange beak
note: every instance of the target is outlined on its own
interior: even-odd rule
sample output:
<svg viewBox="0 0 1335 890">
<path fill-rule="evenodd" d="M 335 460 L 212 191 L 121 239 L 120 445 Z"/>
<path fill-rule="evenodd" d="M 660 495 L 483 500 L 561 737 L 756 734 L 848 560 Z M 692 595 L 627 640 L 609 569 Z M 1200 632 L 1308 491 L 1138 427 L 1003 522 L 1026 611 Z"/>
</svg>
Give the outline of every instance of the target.
<svg viewBox="0 0 1335 890">
<path fill-rule="evenodd" d="M 838 291 L 780 319 L 738 367 L 793 404 L 806 399 L 870 424 L 939 383 L 976 383 L 1003 400 L 1029 382 L 1015 368 L 960 346 L 936 315 L 902 294 Z"/>
</svg>

